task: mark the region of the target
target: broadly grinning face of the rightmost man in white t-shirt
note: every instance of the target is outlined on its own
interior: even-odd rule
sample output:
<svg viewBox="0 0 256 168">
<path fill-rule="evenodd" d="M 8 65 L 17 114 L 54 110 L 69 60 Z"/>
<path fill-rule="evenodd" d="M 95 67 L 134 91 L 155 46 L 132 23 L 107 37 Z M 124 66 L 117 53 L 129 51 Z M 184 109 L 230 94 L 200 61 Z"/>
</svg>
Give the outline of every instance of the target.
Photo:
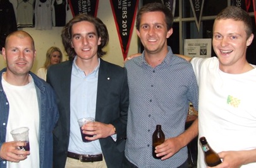
<svg viewBox="0 0 256 168">
<path fill-rule="evenodd" d="M 213 28 L 212 46 L 219 58 L 219 68 L 227 72 L 243 67 L 247 62 L 246 50 L 253 35 L 247 38 L 243 21 L 216 20 Z"/>
</svg>

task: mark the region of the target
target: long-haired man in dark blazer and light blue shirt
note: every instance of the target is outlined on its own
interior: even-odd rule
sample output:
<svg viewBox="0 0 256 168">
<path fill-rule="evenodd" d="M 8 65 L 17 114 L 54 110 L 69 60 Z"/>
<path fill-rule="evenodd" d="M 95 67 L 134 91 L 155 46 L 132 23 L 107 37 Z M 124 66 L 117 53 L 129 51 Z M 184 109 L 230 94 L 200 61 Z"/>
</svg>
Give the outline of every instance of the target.
<svg viewBox="0 0 256 168">
<path fill-rule="evenodd" d="M 125 150 L 128 82 L 123 67 L 101 59 L 109 35 L 99 18 L 78 14 L 61 33 L 69 59 L 52 65 L 47 82 L 57 94 L 60 118 L 54 129 L 54 168 L 121 167 Z M 83 142 L 77 120 L 92 142 Z"/>
</svg>

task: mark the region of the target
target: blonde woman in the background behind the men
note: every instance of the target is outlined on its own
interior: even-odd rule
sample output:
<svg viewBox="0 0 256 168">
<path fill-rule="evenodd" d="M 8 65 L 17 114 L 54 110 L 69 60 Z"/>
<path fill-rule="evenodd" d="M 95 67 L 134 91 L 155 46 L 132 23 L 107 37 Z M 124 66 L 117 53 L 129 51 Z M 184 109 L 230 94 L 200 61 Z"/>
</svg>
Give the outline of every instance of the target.
<svg viewBox="0 0 256 168">
<path fill-rule="evenodd" d="M 62 62 L 62 52 L 58 47 L 50 47 L 46 52 L 46 62 L 44 62 L 44 67 L 40 67 L 37 70 L 37 76 L 46 81 L 47 69 L 50 65 L 59 64 Z"/>
</svg>

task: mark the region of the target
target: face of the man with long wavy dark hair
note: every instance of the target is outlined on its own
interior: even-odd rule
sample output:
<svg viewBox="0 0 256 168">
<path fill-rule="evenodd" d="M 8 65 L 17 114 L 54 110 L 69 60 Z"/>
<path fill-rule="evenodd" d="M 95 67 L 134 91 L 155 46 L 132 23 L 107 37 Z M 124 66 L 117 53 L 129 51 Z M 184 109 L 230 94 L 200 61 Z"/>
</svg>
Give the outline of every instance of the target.
<svg viewBox="0 0 256 168">
<path fill-rule="evenodd" d="M 101 37 L 98 37 L 95 26 L 88 21 L 80 21 L 72 26 L 71 47 L 74 48 L 78 60 L 97 59 L 98 45 Z"/>
</svg>

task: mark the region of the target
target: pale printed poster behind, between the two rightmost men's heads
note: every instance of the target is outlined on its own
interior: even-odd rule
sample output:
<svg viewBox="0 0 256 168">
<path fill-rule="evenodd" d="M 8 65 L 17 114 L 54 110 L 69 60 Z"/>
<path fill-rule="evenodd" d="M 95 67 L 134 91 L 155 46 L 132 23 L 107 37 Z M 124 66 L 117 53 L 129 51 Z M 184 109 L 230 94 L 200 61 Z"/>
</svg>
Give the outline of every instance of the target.
<svg viewBox="0 0 256 168">
<path fill-rule="evenodd" d="M 212 38 L 185 39 L 184 55 L 207 58 L 212 55 Z"/>
</svg>

